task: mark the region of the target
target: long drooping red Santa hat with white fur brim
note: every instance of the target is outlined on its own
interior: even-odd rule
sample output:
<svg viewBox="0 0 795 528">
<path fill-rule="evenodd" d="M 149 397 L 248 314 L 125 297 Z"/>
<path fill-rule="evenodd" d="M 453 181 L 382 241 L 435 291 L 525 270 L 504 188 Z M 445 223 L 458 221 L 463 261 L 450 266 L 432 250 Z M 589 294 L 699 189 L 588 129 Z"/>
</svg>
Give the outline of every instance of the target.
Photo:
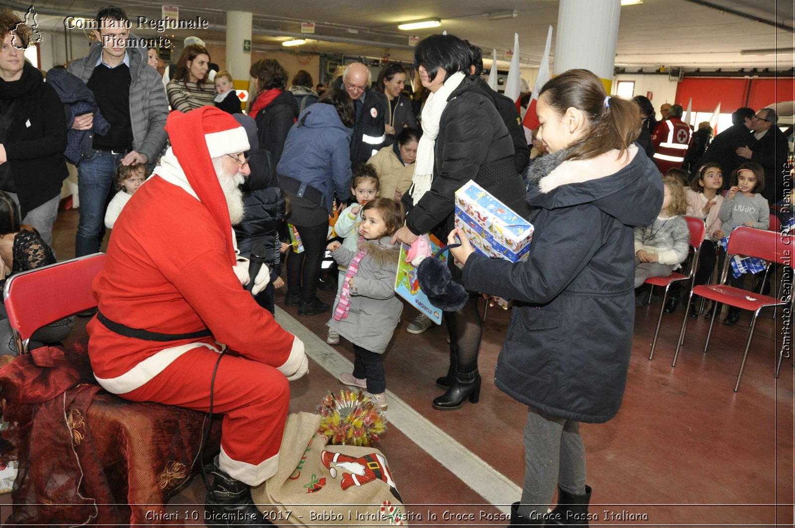
<svg viewBox="0 0 795 528">
<path fill-rule="evenodd" d="M 173 111 L 165 122 L 165 130 L 188 183 L 226 235 L 227 252 L 235 266 L 227 199 L 211 158 L 248 150 L 246 130 L 231 114 L 216 107 L 196 108 L 185 114 Z"/>
</svg>

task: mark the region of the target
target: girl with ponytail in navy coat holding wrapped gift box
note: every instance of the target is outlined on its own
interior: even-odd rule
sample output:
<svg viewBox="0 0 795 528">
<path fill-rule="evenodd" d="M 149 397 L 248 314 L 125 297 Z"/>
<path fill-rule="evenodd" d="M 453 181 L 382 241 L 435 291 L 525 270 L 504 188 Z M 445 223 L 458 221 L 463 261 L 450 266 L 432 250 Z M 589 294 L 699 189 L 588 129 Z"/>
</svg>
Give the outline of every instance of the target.
<svg viewBox="0 0 795 528">
<path fill-rule="evenodd" d="M 634 226 L 663 200 L 653 162 L 638 152 L 638 108 L 607 97 L 599 78 L 570 70 L 541 88 L 538 137 L 549 154 L 530 165 L 535 227 L 525 262 L 475 254 L 463 232 L 448 242 L 469 290 L 514 299 L 495 383 L 529 406 L 525 483 L 511 524 L 587 525 L 591 488 L 579 422 L 619 411 L 634 324 Z M 558 506 L 547 504 L 559 485 Z"/>
</svg>

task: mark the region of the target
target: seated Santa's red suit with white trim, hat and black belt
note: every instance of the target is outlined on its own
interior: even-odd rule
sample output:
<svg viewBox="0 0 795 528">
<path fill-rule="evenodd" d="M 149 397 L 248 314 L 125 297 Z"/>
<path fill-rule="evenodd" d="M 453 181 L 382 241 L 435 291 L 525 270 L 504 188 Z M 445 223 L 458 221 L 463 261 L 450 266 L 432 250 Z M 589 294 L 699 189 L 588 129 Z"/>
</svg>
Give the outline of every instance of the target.
<svg viewBox="0 0 795 528">
<path fill-rule="evenodd" d="M 277 470 L 285 376 L 305 373 L 304 345 L 232 269 L 229 212 L 210 158 L 248 149 L 245 131 L 214 107 L 172 112 L 166 128 L 173 147 L 119 215 L 94 281 L 91 366 L 122 398 L 207 411 L 228 347 L 213 386 L 213 412 L 224 415 L 219 467 L 257 485 Z"/>
</svg>

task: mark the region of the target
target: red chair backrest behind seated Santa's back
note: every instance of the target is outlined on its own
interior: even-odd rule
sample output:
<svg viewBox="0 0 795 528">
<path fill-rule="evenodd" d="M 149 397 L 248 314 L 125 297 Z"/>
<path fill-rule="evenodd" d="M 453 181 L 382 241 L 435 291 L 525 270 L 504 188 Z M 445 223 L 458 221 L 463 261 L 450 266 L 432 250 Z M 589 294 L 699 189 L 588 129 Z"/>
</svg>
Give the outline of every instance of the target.
<svg viewBox="0 0 795 528">
<path fill-rule="evenodd" d="M 39 328 L 97 305 L 91 283 L 103 266 L 105 254 L 95 253 L 22 271 L 6 281 L 3 301 L 20 354 L 29 352 L 30 336 Z"/>
</svg>

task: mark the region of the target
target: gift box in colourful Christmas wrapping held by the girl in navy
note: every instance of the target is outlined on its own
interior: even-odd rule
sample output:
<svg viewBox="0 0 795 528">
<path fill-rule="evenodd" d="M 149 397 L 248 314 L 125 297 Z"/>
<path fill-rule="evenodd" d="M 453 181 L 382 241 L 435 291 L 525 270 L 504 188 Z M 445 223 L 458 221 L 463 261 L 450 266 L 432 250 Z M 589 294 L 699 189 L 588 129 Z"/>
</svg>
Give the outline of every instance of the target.
<svg viewBox="0 0 795 528">
<path fill-rule="evenodd" d="M 472 247 L 488 258 L 520 262 L 527 258 L 533 241 L 533 224 L 474 181 L 456 191 L 456 228 L 463 231 Z M 461 267 L 460 262 L 456 265 Z M 495 297 L 507 309 L 510 300 Z"/>
</svg>

